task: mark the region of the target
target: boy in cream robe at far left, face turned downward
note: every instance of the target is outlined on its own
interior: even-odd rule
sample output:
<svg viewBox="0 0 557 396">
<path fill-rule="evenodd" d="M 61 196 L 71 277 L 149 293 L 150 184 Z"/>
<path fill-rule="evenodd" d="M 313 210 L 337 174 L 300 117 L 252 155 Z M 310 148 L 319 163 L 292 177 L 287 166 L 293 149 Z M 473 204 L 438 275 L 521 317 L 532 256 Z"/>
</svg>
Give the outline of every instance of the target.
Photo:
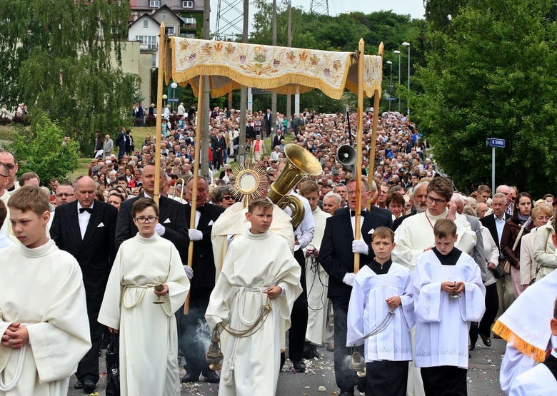
<svg viewBox="0 0 557 396">
<path fill-rule="evenodd" d="M 21 245 L 0 255 L 0 395 L 67 395 L 91 348 L 81 269 L 46 236 L 41 188 L 17 189 L 8 206 Z"/>
</svg>

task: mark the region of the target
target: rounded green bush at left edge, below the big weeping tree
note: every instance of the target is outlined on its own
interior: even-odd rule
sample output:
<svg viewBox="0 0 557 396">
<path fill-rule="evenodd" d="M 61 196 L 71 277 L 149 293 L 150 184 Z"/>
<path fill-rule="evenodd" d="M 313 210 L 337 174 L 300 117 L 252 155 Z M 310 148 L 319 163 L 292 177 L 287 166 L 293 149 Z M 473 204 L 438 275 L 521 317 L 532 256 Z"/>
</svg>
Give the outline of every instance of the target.
<svg viewBox="0 0 557 396">
<path fill-rule="evenodd" d="M 31 128 L 19 127 L 9 150 L 19 162 L 19 174 L 35 172 L 44 186 L 51 178 L 65 179 L 78 167 L 79 144 L 62 144 L 64 131 L 39 111 Z"/>
</svg>

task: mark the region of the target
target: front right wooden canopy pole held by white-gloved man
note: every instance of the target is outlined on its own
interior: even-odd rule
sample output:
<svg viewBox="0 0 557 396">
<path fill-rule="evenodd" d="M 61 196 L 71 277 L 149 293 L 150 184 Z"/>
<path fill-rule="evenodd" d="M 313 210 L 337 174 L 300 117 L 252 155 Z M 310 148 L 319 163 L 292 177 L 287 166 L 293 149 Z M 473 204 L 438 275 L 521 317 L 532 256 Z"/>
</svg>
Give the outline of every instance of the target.
<svg viewBox="0 0 557 396">
<path fill-rule="evenodd" d="M 360 239 L 361 211 L 361 141 L 363 129 L 363 39 L 359 43 L 358 56 L 358 131 L 356 133 L 356 218 L 354 218 L 354 240 Z M 360 253 L 354 253 L 354 273 L 360 270 Z"/>
</svg>

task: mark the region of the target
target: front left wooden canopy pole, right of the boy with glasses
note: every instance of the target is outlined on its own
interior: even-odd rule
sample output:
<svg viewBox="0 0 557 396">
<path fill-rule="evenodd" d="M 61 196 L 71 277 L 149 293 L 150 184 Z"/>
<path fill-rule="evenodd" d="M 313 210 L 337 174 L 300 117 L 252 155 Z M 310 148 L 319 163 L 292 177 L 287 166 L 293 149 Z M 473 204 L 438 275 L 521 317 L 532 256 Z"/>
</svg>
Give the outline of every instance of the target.
<svg viewBox="0 0 557 396">
<path fill-rule="evenodd" d="M 191 186 L 191 211 L 189 215 L 189 228 L 196 228 L 196 207 L 197 207 L 197 181 L 199 180 L 199 163 L 201 148 L 201 128 L 203 128 L 203 116 L 205 109 L 203 108 L 203 88 L 205 85 L 205 76 L 199 76 L 199 87 L 197 91 L 197 121 L 196 121 L 196 146 L 194 158 L 194 176 L 193 186 Z M 186 186 L 187 188 L 187 186 Z M 188 267 L 194 266 L 194 241 L 189 241 L 188 247 Z M 184 315 L 189 314 L 189 293 L 184 303 Z"/>
</svg>

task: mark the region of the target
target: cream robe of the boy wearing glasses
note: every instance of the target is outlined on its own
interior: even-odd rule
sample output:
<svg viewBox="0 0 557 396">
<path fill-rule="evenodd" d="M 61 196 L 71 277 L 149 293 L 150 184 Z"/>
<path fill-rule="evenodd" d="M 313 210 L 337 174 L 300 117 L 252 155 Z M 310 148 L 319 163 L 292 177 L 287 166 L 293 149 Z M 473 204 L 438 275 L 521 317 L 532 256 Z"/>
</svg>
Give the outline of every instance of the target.
<svg viewBox="0 0 557 396">
<path fill-rule="evenodd" d="M 154 304 L 154 286 L 169 293 Z M 189 290 L 178 250 L 159 235 L 139 233 L 120 245 L 106 285 L 99 323 L 119 329 L 122 395 L 180 395 L 174 313 Z"/>
</svg>

